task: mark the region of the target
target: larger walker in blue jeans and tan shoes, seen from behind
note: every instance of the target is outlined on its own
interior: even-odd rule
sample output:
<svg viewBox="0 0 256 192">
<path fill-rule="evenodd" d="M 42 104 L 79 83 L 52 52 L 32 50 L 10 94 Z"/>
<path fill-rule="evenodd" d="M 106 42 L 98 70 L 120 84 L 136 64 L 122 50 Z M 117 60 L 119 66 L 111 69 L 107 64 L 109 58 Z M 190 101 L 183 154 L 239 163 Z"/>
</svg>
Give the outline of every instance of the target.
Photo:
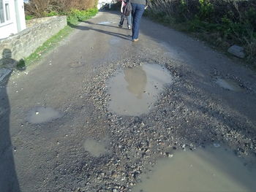
<svg viewBox="0 0 256 192">
<path fill-rule="evenodd" d="M 140 31 L 140 19 L 146 9 L 146 0 L 130 0 L 132 4 L 132 42 L 137 42 Z"/>
</svg>

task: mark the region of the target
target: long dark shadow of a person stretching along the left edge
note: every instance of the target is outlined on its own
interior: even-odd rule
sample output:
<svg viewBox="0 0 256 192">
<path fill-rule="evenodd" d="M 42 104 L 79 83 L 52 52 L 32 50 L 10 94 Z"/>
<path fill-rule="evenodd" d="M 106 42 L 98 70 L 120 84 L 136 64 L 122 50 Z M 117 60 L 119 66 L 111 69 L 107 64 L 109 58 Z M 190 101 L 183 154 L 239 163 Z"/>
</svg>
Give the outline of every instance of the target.
<svg viewBox="0 0 256 192">
<path fill-rule="evenodd" d="M 0 60 L 8 72 L 4 80 L 0 82 L 0 191 L 20 191 L 15 162 L 12 154 L 12 140 L 10 136 L 10 101 L 7 94 L 7 84 L 12 71 L 10 65 L 18 62 L 12 59 L 12 52 L 4 49 Z"/>
</svg>

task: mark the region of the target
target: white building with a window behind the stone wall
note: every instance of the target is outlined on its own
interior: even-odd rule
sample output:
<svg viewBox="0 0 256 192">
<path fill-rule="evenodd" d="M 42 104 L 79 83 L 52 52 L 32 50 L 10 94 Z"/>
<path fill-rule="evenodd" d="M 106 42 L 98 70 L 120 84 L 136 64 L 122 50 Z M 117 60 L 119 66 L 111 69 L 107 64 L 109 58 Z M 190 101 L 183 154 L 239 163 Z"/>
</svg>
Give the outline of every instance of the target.
<svg viewBox="0 0 256 192">
<path fill-rule="evenodd" d="M 26 28 L 23 0 L 0 0 L 0 39 Z"/>
</svg>

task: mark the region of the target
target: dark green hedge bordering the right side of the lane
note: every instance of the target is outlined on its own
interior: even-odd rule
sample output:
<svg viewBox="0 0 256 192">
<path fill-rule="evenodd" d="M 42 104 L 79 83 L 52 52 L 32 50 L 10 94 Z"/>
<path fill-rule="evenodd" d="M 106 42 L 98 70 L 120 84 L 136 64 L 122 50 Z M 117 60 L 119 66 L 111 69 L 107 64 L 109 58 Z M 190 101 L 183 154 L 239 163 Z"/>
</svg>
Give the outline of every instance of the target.
<svg viewBox="0 0 256 192">
<path fill-rule="evenodd" d="M 150 0 L 146 15 L 225 49 L 241 45 L 256 67 L 255 0 Z"/>
</svg>

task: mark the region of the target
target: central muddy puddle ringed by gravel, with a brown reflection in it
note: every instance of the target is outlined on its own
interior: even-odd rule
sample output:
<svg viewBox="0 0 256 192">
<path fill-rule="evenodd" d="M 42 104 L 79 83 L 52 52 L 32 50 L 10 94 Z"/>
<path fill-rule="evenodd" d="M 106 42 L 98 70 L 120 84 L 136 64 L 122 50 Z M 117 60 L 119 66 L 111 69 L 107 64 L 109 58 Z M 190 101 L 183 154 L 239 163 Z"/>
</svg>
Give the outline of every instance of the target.
<svg viewBox="0 0 256 192">
<path fill-rule="evenodd" d="M 157 64 L 120 70 L 107 83 L 111 99 L 109 109 L 119 115 L 147 113 L 165 85 L 171 82 L 170 72 Z"/>
</svg>

